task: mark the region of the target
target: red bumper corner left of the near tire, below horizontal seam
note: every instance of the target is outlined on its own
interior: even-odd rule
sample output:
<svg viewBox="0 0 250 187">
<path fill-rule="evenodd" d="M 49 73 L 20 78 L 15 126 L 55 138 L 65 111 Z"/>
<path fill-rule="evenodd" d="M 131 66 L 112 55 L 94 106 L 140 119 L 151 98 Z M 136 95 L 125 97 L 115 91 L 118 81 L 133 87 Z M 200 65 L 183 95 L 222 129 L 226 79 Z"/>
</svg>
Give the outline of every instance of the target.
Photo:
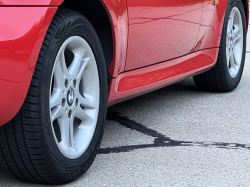
<svg viewBox="0 0 250 187">
<path fill-rule="evenodd" d="M 0 125 L 11 120 L 23 104 L 44 36 L 56 10 L 0 7 Z"/>
</svg>

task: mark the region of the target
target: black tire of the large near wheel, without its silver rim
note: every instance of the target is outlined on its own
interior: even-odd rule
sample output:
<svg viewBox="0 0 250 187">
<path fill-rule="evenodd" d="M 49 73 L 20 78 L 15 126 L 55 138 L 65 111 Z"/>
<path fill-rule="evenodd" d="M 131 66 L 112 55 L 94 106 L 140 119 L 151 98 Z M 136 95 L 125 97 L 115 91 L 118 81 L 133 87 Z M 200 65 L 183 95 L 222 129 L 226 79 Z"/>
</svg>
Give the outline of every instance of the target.
<svg viewBox="0 0 250 187">
<path fill-rule="evenodd" d="M 78 159 L 68 159 L 59 151 L 52 134 L 48 96 L 57 51 L 67 38 L 75 35 L 84 38 L 93 50 L 101 91 L 99 116 L 90 146 Z M 25 102 L 14 119 L 0 127 L 0 164 L 4 171 L 23 181 L 45 184 L 65 184 L 79 178 L 98 153 L 106 120 L 107 94 L 105 60 L 95 30 L 78 12 L 58 9 L 44 39 Z"/>
</svg>

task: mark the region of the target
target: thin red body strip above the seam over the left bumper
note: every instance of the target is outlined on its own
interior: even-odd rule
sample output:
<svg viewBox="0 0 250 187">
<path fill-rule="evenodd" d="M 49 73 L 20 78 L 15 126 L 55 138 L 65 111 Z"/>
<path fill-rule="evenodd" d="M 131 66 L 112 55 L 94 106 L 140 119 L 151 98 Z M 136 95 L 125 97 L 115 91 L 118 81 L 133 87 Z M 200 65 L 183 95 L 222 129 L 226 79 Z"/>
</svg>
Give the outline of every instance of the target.
<svg viewBox="0 0 250 187">
<path fill-rule="evenodd" d="M 0 6 L 59 6 L 63 0 L 0 0 Z"/>
</svg>

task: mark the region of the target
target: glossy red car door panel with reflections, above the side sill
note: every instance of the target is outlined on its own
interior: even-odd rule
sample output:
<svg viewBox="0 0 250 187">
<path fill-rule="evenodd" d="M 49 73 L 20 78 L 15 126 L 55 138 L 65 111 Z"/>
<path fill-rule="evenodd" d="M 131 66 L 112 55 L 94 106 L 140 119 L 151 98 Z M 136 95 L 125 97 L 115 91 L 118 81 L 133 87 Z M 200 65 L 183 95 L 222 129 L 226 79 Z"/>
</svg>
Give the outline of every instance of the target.
<svg viewBox="0 0 250 187">
<path fill-rule="evenodd" d="M 203 0 L 127 0 L 125 70 L 186 55 L 196 45 Z"/>
</svg>

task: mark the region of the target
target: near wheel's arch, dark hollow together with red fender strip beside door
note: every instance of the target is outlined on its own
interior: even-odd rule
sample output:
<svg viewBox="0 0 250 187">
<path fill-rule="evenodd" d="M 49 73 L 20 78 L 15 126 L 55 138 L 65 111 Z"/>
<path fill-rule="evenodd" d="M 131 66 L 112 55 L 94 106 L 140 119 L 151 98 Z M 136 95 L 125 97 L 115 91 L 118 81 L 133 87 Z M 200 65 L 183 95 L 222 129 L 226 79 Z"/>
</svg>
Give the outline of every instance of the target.
<svg viewBox="0 0 250 187">
<path fill-rule="evenodd" d="M 127 2 L 118 0 L 61 1 L 59 8 L 78 11 L 93 25 L 104 51 L 109 80 L 123 72 L 128 42 Z"/>
</svg>

